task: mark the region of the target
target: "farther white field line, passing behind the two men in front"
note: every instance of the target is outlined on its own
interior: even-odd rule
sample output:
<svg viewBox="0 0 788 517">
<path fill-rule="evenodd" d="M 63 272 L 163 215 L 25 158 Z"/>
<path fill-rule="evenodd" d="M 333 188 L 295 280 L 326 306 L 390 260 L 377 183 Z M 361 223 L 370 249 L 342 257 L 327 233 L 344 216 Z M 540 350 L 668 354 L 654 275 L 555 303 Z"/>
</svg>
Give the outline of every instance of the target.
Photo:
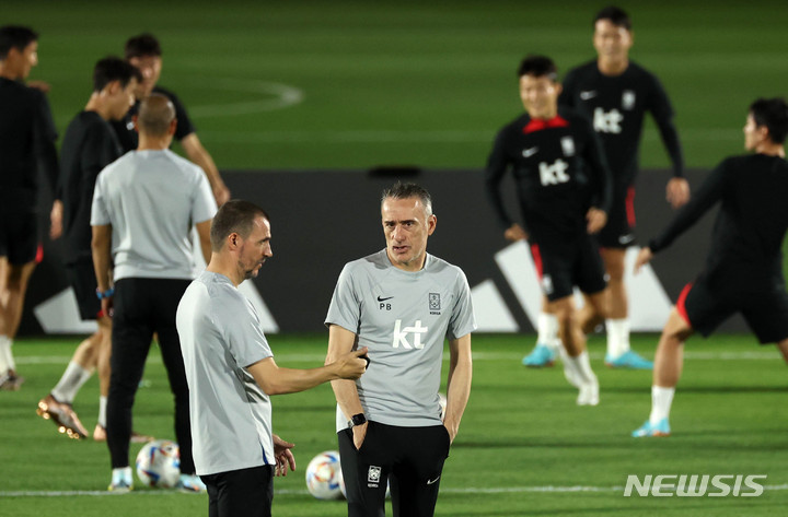
<svg viewBox="0 0 788 517">
<path fill-rule="evenodd" d="M 525 350 L 525 349 L 523 349 Z M 314 363 L 325 361 L 324 354 L 275 354 L 277 363 Z M 601 360 L 604 357 L 602 352 L 591 352 L 589 357 L 592 360 Z M 780 357 L 777 351 L 755 351 L 755 352 L 684 352 L 684 359 L 690 361 L 774 361 Z M 443 359 L 449 359 L 449 353 L 443 353 Z M 474 361 L 520 361 L 522 353 L 497 353 L 497 352 L 474 352 Z M 15 357 L 18 364 L 68 364 L 71 361 L 70 355 L 27 355 Z M 161 356 L 153 352 L 148 361 L 150 363 L 161 364 Z"/>
</svg>

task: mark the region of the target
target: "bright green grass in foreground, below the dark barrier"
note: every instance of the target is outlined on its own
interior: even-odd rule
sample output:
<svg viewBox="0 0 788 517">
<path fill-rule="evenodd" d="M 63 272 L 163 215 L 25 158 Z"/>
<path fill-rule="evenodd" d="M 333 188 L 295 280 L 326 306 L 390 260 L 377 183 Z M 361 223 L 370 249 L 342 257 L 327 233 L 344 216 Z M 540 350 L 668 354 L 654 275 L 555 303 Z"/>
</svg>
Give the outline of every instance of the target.
<svg viewBox="0 0 788 517">
<path fill-rule="evenodd" d="M 205 515 L 207 497 L 139 487 L 126 496 L 105 495 L 109 457 L 105 445 L 73 442 L 35 415 L 39 398 L 59 378 L 77 340 L 20 340 L 14 353 L 27 377 L 18 392 L 0 392 L 0 508 L 3 515 L 171 517 Z M 603 341 L 590 342 L 600 376 L 596 408 L 575 406 L 576 392 L 559 368 L 520 365 L 533 338 L 474 338 L 474 385 L 460 434 L 441 483 L 440 516 L 766 516 L 788 503 L 785 453 L 786 373 L 773 348 L 751 337 L 694 339 L 665 439 L 634 439 L 629 432 L 647 418 L 650 373 L 602 366 Z M 278 363 L 311 367 L 321 363 L 325 336 L 271 337 Z M 634 346 L 651 355 L 654 336 L 635 337 Z M 40 361 L 44 359 L 44 361 Z M 403 387 L 405 388 L 405 387 Z M 92 428 L 97 383 L 91 379 L 74 409 Z M 172 438 L 172 397 L 159 353 L 153 349 L 135 407 L 135 426 Z M 320 502 L 305 493 L 303 469 L 322 450 L 335 449 L 334 402 L 329 387 L 274 398 L 274 427 L 297 444 L 299 470 L 277 479 L 275 515 L 339 516 L 341 502 Z M 140 446 L 132 446 L 132 458 Z M 628 474 L 766 474 L 762 496 L 624 497 Z M 582 486 L 588 491 L 545 492 Z M 594 491 L 591 491 L 594 490 Z M 99 491 L 100 495 L 44 492 Z M 9 493 L 28 492 L 9 496 Z"/>
</svg>

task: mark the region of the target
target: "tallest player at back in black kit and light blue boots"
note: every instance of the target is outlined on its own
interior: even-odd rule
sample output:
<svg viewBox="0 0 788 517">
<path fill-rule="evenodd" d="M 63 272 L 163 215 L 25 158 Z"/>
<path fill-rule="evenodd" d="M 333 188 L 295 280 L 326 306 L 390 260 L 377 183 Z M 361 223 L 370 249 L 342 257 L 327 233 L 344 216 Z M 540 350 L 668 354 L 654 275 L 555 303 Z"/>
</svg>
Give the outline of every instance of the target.
<svg viewBox="0 0 788 517">
<path fill-rule="evenodd" d="M 624 285 L 626 248 L 635 244 L 635 179 L 647 111 L 657 121 L 673 163 L 674 177 L 668 181 L 668 201 L 674 208 L 684 204 L 690 198 L 690 187 L 682 177 L 682 150 L 668 95 L 652 73 L 629 59 L 633 32 L 627 13 L 616 7 L 601 10 L 594 19 L 593 45 L 596 59 L 567 73 L 558 103 L 593 120 L 613 174 L 613 202 L 607 224 L 598 235 L 609 275 L 605 363 L 617 368 L 651 369 L 653 364 L 650 361 L 629 349 L 628 303 Z M 544 317 L 549 319 L 549 316 Z M 604 318 L 594 310 L 593 304 L 586 304 L 581 312 L 586 331 L 591 331 Z M 544 341 L 537 342 L 524 360 L 530 366 L 545 365 L 555 355 L 549 349 L 551 338 Z"/>
</svg>

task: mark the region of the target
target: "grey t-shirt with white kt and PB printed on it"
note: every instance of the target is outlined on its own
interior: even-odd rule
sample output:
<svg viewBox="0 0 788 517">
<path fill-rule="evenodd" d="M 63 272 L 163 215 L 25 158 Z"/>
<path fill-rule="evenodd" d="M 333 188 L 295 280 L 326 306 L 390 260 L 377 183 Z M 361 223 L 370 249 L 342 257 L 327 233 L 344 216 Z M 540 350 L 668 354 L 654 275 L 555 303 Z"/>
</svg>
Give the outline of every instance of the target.
<svg viewBox="0 0 788 517">
<path fill-rule="evenodd" d="M 431 255 L 424 269 L 403 271 L 383 249 L 343 269 L 325 324 L 369 346 L 370 365 L 356 381 L 367 419 L 389 425 L 438 425 L 444 339 L 474 331 L 463 271 Z M 349 415 L 337 410 L 337 431 Z"/>
</svg>

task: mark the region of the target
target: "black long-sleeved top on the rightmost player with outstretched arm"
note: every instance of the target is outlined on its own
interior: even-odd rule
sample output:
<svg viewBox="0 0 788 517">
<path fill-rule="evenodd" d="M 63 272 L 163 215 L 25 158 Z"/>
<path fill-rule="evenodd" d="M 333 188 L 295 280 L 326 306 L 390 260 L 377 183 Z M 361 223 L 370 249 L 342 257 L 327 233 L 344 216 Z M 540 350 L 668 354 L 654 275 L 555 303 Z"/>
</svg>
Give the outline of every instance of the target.
<svg viewBox="0 0 788 517">
<path fill-rule="evenodd" d="M 727 271 L 731 281 L 781 278 L 781 245 L 788 231 L 788 163 L 765 154 L 720 163 L 673 221 L 649 243 L 667 248 L 718 201 L 720 211 L 706 260 L 709 271 Z"/>
</svg>

